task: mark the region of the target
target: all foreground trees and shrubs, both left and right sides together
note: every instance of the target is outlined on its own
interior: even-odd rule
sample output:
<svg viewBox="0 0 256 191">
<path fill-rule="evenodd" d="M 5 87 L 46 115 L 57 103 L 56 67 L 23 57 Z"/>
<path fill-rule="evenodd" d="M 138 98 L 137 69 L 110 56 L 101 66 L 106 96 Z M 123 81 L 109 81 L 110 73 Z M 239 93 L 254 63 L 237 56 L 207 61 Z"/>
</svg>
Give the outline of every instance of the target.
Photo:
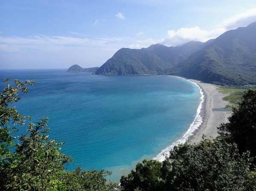
<svg viewBox="0 0 256 191">
<path fill-rule="evenodd" d="M 9 83 L 9 80 L 6 80 Z M 107 182 L 111 172 L 67 171 L 72 158 L 61 153 L 63 143 L 49 139 L 47 118 L 32 123 L 15 107 L 19 91 L 14 86 L 0 93 L 0 190 L 3 191 L 254 191 L 256 190 L 256 90 L 248 90 L 228 123 L 218 127 L 220 136 L 197 144 L 174 147 L 164 162 L 144 160 L 135 171 L 122 176 L 119 185 Z M 26 121 L 29 121 L 27 123 Z M 14 137 L 16 127 L 27 133 Z"/>
</svg>

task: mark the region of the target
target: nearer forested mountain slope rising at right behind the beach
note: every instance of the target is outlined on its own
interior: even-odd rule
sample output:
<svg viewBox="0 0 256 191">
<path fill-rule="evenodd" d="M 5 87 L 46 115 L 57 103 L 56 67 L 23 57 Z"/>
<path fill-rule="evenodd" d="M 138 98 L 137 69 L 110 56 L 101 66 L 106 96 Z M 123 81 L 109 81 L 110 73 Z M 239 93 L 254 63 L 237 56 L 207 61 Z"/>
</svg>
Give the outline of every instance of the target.
<svg viewBox="0 0 256 191">
<path fill-rule="evenodd" d="M 256 84 L 256 22 L 230 30 L 165 72 L 207 83 Z"/>
</svg>

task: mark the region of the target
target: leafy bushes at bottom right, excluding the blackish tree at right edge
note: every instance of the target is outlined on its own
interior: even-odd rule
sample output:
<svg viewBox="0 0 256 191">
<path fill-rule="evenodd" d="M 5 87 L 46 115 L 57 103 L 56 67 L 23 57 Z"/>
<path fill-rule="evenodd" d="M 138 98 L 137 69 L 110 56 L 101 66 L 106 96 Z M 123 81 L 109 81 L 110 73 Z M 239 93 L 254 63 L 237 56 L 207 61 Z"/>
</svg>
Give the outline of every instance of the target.
<svg viewBox="0 0 256 191">
<path fill-rule="evenodd" d="M 154 160 L 138 163 L 136 172 L 121 178 L 121 187 L 123 191 L 253 191 L 250 161 L 248 153 L 240 155 L 236 144 L 221 138 L 180 144 L 163 165 Z"/>
</svg>

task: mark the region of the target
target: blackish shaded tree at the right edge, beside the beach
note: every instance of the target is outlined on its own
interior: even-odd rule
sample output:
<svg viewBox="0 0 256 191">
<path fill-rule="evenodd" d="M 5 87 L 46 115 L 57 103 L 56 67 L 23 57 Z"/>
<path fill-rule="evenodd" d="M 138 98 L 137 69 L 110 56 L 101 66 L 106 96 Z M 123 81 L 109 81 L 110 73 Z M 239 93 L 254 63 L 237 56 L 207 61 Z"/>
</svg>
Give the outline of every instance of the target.
<svg viewBox="0 0 256 191">
<path fill-rule="evenodd" d="M 221 123 L 218 133 L 229 142 L 235 142 L 240 152 L 250 151 L 256 157 L 256 90 L 248 90 L 228 123 Z"/>
</svg>

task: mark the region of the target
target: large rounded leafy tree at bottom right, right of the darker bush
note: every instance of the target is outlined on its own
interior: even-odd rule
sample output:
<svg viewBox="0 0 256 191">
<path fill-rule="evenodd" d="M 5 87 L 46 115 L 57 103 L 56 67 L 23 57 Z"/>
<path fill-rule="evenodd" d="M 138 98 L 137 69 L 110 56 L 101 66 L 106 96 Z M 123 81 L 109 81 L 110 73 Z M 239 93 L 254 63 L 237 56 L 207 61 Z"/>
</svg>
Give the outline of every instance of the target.
<svg viewBox="0 0 256 191">
<path fill-rule="evenodd" d="M 166 190 L 249 191 L 252 187 L 249 154 L 240 155 L 236 144 L 219 137 L 175 146 L 169 161 Z"/>
</svg>

